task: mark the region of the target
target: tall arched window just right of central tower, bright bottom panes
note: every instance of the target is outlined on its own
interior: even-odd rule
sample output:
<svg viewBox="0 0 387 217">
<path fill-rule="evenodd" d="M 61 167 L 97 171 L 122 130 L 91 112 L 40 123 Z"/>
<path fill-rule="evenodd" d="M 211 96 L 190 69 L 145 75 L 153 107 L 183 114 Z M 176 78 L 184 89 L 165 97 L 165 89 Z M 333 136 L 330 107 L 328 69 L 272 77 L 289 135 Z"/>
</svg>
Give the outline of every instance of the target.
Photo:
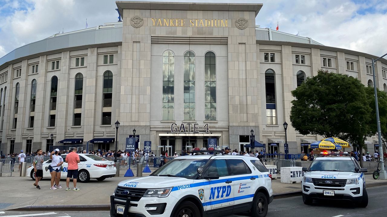
<svg viewBox="0 0 387 217">
<path fill-rule="evenodd" d="M 266 124 L 277 124 L 276 120 L 276 80 L 272 69 L 265 71 Z"/>
</svg>

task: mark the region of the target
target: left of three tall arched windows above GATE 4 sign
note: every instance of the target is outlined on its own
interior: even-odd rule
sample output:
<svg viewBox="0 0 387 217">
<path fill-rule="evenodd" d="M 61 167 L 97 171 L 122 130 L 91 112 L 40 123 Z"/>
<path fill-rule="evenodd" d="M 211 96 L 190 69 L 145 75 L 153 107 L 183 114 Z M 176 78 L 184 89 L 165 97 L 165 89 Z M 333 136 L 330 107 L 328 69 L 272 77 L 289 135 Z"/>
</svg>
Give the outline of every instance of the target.
<svg viewBox="0 0 387 217">
<path fill-rule="evenodd" d="M 163 53 L 163 120 L 173 120 L 175 107 L 175 55 Z"/>
</svg>

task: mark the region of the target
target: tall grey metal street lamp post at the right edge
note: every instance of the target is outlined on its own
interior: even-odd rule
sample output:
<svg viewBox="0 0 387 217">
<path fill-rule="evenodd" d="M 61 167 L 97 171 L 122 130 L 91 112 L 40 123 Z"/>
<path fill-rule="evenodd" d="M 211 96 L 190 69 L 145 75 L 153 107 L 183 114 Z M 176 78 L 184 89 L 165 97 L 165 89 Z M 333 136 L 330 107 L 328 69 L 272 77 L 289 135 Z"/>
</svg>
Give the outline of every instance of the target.
<svg viewBox="0 0 387 217">
<path fill-rule="evenodd" d="M 373 92 L 375 96 L 375 108 L 376 108 L 376 125 L 378 127 L 378 141 L 379 141 L 379 156 L 382 164 L 382 171 L 380 171 L 380 179 L 387 179 L 387 173 L 384 170 L 384 161 L 383 161 L 383 144 L 382 144 L 382 130 L 380 129 L 380 117 L 379 117 L 379 105 L 378 105 L 378 93 L 376 91 L 376 76 L 375 76 L 375 62 L 379 59 L 382 59 L 387 54 L 383 56 L 372 59 L 372 76 L 373 76 Z M 385 123 L 384 123 L 385 124 Z"/>
</svg>

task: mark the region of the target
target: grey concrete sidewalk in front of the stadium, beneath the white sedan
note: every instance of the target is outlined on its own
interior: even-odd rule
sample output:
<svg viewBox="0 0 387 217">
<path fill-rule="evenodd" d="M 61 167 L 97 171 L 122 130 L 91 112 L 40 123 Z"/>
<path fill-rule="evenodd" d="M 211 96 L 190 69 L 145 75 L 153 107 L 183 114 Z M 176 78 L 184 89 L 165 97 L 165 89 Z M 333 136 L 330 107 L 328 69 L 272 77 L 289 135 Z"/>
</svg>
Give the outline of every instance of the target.
<svg viewBox="0 0 387 217">
<path fill-rule="evenodd" d="M 154 171 L 151 168 L 151 171 Z M 90 180 L 88 183 L 77 183 L 80 191 L 65 191 L 66 182 L 61 180 L 62 189 L 50 190 L 50 179 L 39 181 L 41 190 L 35 189 L 34 181 L 29 177 L 20 177 L 19 172 L 12 173 L 12 177 L 3 174 L 0 177 L 2 189 L 0 190 L 0 210 L 108 210 L 110 195 L 117 184 L 123 180 L 136 177 L 135 168 L 132 169 L 134 177 L 124 177 L 126 170 L 120 170 L 120 177 L 107 178 L 104 181 Z M 143 173 L 147 176 L 150 173 Z M 366 185 L 387 185 L 385 180 L 373 180 L 372 175 L 366 175 Z M 70 182 L 72 187 L 72 182 Z M 301 194 L 301 183 L 281 183 L 280 175 L 277 180 L 272 180 L 274 198 L 292 197 Z"/>
</svg>

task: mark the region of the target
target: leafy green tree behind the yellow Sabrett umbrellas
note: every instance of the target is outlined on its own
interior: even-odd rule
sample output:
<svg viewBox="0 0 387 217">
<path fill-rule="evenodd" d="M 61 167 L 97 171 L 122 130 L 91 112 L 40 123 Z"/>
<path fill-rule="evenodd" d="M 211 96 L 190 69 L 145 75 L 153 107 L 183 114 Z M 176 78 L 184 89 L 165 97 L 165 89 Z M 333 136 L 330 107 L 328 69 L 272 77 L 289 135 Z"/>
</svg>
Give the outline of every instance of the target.
<svg viewBox="0 0 387 217">
<path fill-rule="evenodd" d="M 371 108 L 359 80 L 319 70 L 292 95 L 290 121 L 298 132 L 349 139 L 363 147 L 363 138 L 370 131 Z"/>
</svg>

